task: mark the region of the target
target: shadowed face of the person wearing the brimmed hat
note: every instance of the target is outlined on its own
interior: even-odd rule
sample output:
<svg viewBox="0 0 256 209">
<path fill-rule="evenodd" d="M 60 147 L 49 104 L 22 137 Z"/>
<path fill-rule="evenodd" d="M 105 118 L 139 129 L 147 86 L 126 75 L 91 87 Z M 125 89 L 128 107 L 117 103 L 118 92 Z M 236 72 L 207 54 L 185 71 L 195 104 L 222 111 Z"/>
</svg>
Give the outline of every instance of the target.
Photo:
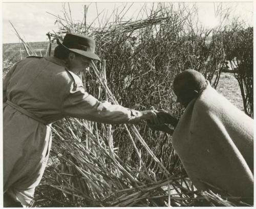
<svg viewBox="0 0 256 209">
<path fill-rule="evenodd" d="M 91 64 L 91 59 L 83 56 L 76 55 L 74 53 L 70 53 L 68 58 L 68 66 L 70 71 L 75 74 L 78 74 L 84 69 L 88 68 Z"/>
</svg>

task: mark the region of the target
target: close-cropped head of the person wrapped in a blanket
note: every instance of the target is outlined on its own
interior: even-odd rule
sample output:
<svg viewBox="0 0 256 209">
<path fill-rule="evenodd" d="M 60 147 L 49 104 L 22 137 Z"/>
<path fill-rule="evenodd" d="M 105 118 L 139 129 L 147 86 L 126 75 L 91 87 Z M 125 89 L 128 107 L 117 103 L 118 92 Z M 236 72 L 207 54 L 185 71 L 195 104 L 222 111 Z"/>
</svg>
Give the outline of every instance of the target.
<svg viewBox="0 0 256 209">
<path fill-rule="evenodd" d="M 187 106 L 205 86 L 206 80 L 200 72 L 186 69 L 174 79 L 173 89 L 177 96 L 177 102 Z"/>
</svg>

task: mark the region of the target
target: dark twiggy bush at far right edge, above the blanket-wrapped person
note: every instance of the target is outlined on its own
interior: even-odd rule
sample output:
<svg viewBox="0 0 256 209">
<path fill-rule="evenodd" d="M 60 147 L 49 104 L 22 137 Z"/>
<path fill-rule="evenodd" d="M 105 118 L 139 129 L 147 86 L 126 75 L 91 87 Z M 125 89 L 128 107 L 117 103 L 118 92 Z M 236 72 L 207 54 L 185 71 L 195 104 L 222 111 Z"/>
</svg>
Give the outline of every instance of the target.
<svg viewBox="0 0 256 209">
<path fill-rule="evenodd" d="M 238 80 L 244 111 L 253 118 L 253 28 L 234 21 L 231 29 L 223 32 L 226 60 Z"/>
</svg>

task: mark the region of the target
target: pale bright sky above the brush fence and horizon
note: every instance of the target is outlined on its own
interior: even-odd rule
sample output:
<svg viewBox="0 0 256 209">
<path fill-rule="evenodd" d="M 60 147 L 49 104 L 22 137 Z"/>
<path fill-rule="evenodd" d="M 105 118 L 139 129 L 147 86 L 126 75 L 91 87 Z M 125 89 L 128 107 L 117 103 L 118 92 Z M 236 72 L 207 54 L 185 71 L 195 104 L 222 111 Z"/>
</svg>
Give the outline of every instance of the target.
<svg viewBox="0 0 256 209">
<path fill-rule="evenodd" d="M 87 14 L 87 22 L 92 22 L 97 17 L 98 13 L 102 12 L 103 15 L 111 15 L 115 8 L 119 8 L 119 11 L 127 4 L 126 8 L 131 8 L 126 13 L 126 18 L 130 19 L 137 16 L 140 8 L 145 4 L 144 2 L 135 3 L 70 3 L 72 18 L 74 21 L 81 21 L 84 15 L 84 5 L 89 6 Z M 147 3 L 148 7 L 151 7 L 153 3 Z M 173 3 L 176 4 L 177 3 Z M 185 3 L 190 4 L 192 3 Z M 207 2 L 196 3 L 199 8 L 199 20 L 205 25 L 205 27 L 214 27 L 218 24 L 218 20 L 215 18 L 215 10 L 219 3 Z M 47 41 L 47 32 L 58 30 L 58 26 L 54 24 L 56 18 L 49 14 L 62 15 L 63 6 L 68 9 L 68 3 L 40 3 L 40 2 L 16 2 L 16 3 L 2 3 L 2 27 L 3 27 L 3 43 L 19 42 L 17 36 L 9 21 L 12 22 L 19 35 L 25 39 L 25 41 Z M 96 10 L 97 5 L 97 10 Z M 244 19 L 248 25 L 253 24 L 253 3 L 252 2 L 228 2 L 223 3 L 224 7 L 232 9 L 231 15 L 239 16 Z M 49 12 L 49 13 L 47 13 Z"/>
</svg>

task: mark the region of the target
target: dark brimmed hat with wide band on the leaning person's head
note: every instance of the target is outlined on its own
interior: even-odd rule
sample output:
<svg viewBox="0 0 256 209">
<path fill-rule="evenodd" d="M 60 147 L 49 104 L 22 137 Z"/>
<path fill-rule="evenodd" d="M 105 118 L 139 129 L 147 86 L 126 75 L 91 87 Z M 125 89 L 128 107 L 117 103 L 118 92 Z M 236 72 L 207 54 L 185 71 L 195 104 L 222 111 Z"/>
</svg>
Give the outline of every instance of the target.
<svg viewBox="0 0 256 209">
<path fill-rule="evenodd" d="M 100 58 L 94 54 L 95 41 L 89 37 L 81 34 L 67 33 L 63 42 L 59 39 L 56 40 L 57 44 L 62 45 L 66 49 L 75 52 L 90 59 L 99 60 Z"/>
</svg>

